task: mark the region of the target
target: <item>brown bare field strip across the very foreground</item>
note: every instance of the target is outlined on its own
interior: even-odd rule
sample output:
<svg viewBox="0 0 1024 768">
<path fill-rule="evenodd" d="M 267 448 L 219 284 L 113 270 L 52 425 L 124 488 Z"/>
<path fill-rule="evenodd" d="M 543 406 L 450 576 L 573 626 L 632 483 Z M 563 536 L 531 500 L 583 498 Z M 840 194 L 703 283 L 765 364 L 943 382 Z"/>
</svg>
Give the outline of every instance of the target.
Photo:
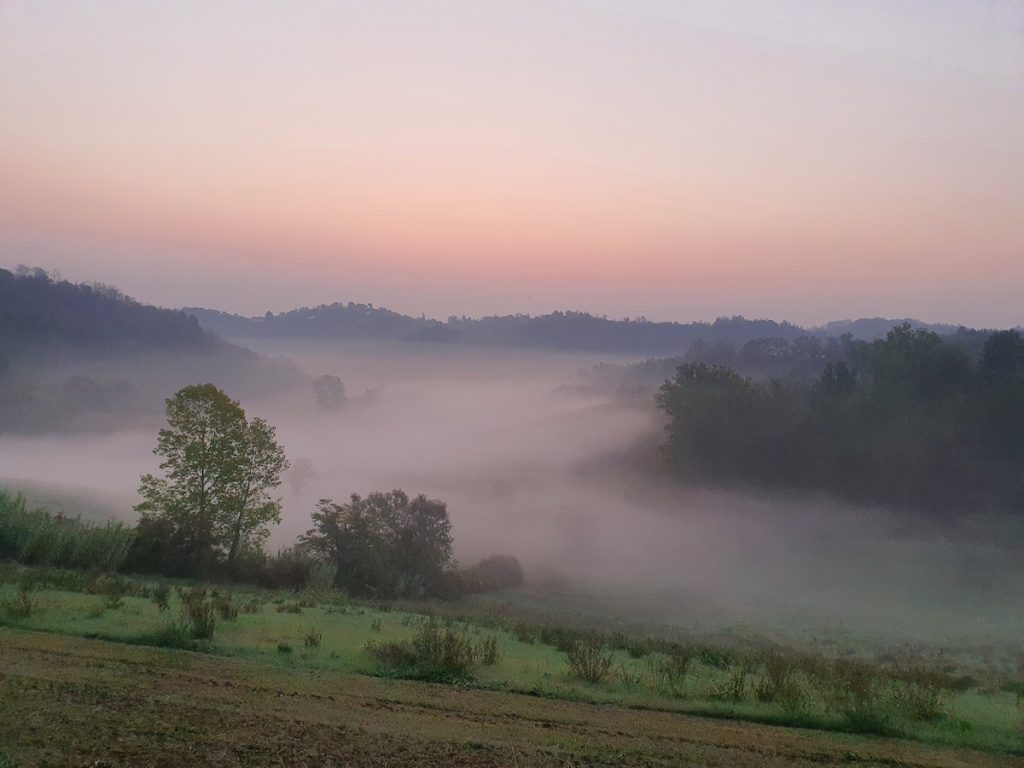
<svg viewBox="0 0 1024 768">
<path fill-rule="evenodd" d="M 1019 768 L 1020 759 L 0 629 L 0 765 Z"/>
</svg>

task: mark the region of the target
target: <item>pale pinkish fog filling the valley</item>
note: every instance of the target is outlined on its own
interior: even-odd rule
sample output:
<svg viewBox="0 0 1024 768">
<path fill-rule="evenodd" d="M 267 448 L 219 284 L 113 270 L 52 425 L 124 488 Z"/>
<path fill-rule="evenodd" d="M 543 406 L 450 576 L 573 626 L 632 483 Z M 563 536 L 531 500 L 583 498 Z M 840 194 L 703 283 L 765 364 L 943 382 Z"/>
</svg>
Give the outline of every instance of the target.
<svg viewBox="0 0 1024 768">
<path fill-rule="evenodd" d="M 531 591 L 599 597 L 637 621 L 934 643 L 1024 634 L 1019 530 L 973 537 L 822 497 L 680 487 L 650 468 L 660 423 L 649 404 L 556 391 L 606 355 L 255 348 L 310 376 L 338 375 L 349 395 L 329 414 L 308 387 L 244 399 L 278 427 L 293 463 L 315 470 L 282 484 L 271 549 L 309 527 L 317 499 L 400 487 L 447 502 L 461 562 L 514 554 Z M 0 437 L 0 476 L 131 519 L 139 475 L 157 471 L 155 439 L 150 430 Z"/>
</svg>

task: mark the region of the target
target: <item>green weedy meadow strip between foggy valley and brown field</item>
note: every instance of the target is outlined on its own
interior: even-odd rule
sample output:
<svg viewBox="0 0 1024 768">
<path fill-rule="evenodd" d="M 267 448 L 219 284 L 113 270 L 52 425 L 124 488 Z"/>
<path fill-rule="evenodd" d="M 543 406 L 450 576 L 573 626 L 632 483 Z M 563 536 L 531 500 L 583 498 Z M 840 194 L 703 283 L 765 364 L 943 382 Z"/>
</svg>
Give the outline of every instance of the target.
<svg viewBox="0 0 1024 768">
<path fill-rule="evenodd" d="M 236 658 L 268 673 L 414 678 L 1024 755 L 1021 669 L 1006 652 L 898 657 L 864 644 L 829 656 L 754 635 L 602 633 L 569 618 L 531 623 L 526 610 L 517 617 L 509 605 L 528 595 L 499 610 L 497 598 L 390 605 L 18 566 L 3 574 L 0 623 L 19 630 Z M 210 637 L 188 623 L 193 590 L 206 590 Z M 420 651 L 435 657 L 418 666 Z"/>
</svg>

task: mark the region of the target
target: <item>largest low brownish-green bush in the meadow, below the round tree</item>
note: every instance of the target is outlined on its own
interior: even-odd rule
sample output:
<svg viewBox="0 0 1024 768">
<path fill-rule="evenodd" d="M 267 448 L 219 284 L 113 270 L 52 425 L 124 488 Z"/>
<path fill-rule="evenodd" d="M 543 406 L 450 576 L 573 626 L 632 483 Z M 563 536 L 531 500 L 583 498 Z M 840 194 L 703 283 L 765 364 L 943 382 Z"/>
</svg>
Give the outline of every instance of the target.
<svg viewBox="0 0 1024 768">
<path fill-rule="evenodd" d="M 412 680 L 462 682 L 471 678 L 476 660 L 464 635 L 442 630 L 433 620 L 421 624 L 412 640 L 371 640 L 366 648 L 382 673 Z"/>
</svg>

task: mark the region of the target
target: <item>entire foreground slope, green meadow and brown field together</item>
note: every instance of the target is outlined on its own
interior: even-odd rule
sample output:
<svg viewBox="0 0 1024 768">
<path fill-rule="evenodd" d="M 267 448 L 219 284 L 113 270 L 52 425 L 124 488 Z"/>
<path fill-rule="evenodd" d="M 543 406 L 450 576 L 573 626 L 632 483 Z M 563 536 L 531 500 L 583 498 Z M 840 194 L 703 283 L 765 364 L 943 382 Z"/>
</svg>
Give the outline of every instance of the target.
<svg viewBox="0 0 1024 768">
<path fill-rule="evenodd" d="M 189 585 L 17 566 L 3 578 L 7 765 L 191 754 L 222 765 L 939 766 L 1024 755 L 1019 670 L 1005 654 L 868 663 L 850 649 L 829 658 L 592 635 L 485 601 L 391 606 L 224 587 L 204 598 L 212 636 L 196 638 Z M 424 636 L 465 650 L 464 669 L 402 660 Z M 580 648 L 591 652 L 582 672 L 568 660 Z"/>
</svg>

